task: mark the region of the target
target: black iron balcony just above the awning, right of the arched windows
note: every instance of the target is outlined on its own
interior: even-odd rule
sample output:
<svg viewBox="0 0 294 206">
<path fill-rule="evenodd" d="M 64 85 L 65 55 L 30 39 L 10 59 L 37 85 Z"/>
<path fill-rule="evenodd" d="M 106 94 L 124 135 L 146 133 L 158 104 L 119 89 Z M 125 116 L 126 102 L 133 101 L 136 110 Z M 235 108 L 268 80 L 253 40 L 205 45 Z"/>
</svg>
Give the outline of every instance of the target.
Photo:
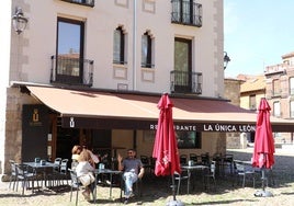
<svg viewBox="0 0 294 206">
<path fill-rule="evenodd" d="M 170 72 L 171 93 L 202 94 L 202 73 L 177 71 Z"/>
</svg>

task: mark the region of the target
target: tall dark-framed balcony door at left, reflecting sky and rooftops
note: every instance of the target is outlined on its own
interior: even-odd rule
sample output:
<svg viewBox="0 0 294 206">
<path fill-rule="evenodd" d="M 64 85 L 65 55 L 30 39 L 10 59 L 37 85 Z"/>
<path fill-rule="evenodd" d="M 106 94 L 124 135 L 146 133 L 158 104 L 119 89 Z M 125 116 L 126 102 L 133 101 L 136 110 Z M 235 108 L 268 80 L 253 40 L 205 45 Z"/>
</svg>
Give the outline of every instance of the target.
<svg viewBox="0 0 294 206">
<path fill-rule="evenodd" d="M 82 83 L 83 22 L 58 18 L 56 80 L 64 83 Z"/>
</svg>

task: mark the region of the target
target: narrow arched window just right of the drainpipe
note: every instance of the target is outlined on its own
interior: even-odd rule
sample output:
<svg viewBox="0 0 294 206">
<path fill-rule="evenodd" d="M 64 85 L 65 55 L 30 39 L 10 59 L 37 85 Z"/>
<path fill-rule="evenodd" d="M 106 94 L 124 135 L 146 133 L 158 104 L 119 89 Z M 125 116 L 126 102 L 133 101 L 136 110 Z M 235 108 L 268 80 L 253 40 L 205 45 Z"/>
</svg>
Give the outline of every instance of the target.
<svg viewBox="0 0 294 206">
<path fill-rule="evenodd" d="M 152 67 L 152 41 L 151 36 L 146 32 L 142 36 L 142 67 L 151 68 Z"/>
</svg>

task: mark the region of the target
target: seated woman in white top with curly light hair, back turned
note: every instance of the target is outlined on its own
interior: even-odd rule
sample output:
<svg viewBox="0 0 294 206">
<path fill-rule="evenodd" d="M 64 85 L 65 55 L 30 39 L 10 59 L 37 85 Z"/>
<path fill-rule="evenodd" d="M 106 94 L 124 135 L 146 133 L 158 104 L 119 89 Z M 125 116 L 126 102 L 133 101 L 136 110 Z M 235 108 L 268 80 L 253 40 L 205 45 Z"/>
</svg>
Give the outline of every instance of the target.
<svg viewBox="0 0 294 206">
<path fill-rule="evenodd" d="M 87 149 L 83 149 L 80 152 L 79 163 L 76 168 L 77 176 L 81 181 L 82 185 L 86 186 L 86 190 L 82 192 L 82 195 L 87 201 L 90 201 L 90 193 L 93 194 L 94 191 L 94 168 L 92 167 L 91 154 Z"/>
</svg>

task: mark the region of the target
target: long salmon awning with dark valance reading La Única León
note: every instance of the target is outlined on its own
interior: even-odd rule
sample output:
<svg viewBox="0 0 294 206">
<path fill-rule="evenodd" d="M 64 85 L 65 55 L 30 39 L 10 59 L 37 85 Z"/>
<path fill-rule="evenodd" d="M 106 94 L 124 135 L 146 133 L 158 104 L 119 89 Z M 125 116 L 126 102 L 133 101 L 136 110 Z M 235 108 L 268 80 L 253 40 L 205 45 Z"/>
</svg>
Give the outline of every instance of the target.
<svg viewBox="0 0 294 206">
<path fill-rule="evenodd" d="M 60 113 L 63 126 L 152 129 L 160 95 L 78 91 L 27 85 L 31 95 Z M 223 100 L 170 98 L 176 129 L 255 131 L 257 113 Z M 294 122 L 271 118 L 274 131 L 294 131 Z M 253 127 L 253 128 L 252 128 Z"/>
</svg>

